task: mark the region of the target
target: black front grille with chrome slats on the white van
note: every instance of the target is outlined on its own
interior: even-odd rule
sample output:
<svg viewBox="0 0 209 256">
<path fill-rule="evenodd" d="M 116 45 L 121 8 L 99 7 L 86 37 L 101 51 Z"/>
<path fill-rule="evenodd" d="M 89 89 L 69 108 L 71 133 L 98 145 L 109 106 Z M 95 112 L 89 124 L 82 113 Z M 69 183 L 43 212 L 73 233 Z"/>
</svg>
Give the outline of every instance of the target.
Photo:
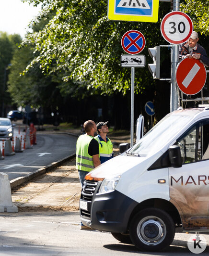
<svg viewBox="0 0 209 256">
<path fill-rule="evenodd" d="M 93 194 L 96 190 L 97 185 L 98 185 L 98 181 L 85 180 L 83 182 L 82 191 L 81 191 L 81 199 L 88 202 L 89 209 L 91 209 L 92 198 L 93 198 Z M 81 216 L 84 218 L 91 219 L 91 212 L 81 209 Z"/>
</svg>

